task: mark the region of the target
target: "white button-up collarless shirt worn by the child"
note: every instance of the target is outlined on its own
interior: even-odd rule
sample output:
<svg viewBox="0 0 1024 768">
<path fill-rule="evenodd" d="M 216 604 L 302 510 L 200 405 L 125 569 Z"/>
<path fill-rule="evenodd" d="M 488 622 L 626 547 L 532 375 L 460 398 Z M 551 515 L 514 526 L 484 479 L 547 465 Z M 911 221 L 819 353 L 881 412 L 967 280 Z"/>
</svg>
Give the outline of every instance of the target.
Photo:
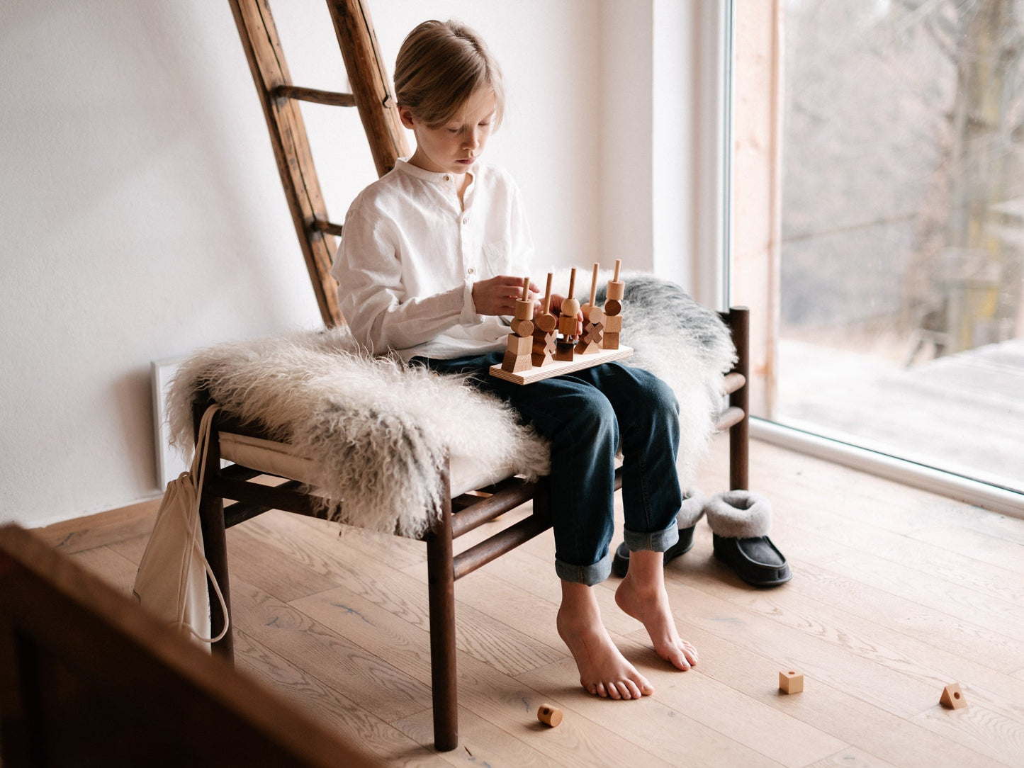
<svg viewBox="0 0 1024 768">
<path fill-rule="evenodd" d="M 476 313 L 473 284 L 526 276 L 532 242 L 512 177 L 479 163 L 471 174 L 460 206 L 454 175 L 398 160 L 352 202 L 331 274 L 370 351 L 409 360 L 504 348 L 509 327 Z"/>
</svg>

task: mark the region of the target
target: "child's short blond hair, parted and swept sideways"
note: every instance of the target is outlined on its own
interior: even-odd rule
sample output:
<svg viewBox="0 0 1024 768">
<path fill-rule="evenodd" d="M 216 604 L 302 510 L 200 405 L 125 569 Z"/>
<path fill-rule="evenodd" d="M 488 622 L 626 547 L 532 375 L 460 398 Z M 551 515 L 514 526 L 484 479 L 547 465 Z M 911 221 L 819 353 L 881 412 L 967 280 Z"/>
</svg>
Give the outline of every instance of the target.
<svg viewBox="0 0 1024 768">
<path fill-rule="evenodd" d="M 430 20 L 406 37 L 394 65 L 395 97 L 428 128 L 450 123 L 480 89 L 495 94 L 497 128 L 505 113 L 502 71 L 473 30 Z"/>
</svg>

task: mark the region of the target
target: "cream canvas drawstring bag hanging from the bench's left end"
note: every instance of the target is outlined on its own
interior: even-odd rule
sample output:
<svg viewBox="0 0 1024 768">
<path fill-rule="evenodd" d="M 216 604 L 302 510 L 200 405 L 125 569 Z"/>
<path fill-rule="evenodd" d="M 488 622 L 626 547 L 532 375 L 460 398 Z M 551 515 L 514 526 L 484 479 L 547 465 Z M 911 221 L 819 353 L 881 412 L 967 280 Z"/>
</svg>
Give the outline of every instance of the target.
<svg viewBox="0 0 1024 768">
<path fill-rule="evenodd" d="M 216 406 L 203 414 L 191 469 L 167 483 L 157 511 L 150 543 L 142 554 L 132 593 L 143 608 L 155 613 L 185 636 L 215 643 L 227 632 L 227 605 L 203 551 L 199 521 L 200 490 L 210 447 L 210 424 Z M 210 578 L 225 617 L 224 629 L 210 637 Z"/>
</svg>

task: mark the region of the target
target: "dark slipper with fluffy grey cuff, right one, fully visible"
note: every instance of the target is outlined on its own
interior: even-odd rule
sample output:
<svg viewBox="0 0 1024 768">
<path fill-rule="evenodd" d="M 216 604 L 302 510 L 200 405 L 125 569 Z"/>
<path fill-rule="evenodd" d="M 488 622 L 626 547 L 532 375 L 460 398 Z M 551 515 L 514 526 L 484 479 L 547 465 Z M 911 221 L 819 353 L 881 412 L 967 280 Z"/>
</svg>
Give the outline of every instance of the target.
<svg viewBox="0 0 1024 768">
<path fill-rule="evenodd" d="M 754 587 L 777 587 L 793 578 L 785 556 L 768 538 L 771 503 L 750 490 L 718 494 L 705 508 L 715 557 Z"/>
</svg>

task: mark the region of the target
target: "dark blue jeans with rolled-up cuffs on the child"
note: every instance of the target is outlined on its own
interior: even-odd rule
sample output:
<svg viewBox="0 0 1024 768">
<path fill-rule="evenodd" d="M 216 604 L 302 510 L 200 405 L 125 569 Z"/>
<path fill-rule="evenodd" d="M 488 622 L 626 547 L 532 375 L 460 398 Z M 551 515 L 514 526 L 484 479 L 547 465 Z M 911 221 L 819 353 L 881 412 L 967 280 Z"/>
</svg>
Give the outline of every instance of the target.
<svg viewBox="0 0 1024 768">
<path fill-rule="evenodd" d="M 606 362 L 522 386 L 489 376 L 501 352 L 415 358 L 470 381 L 514 408 L 551 441 L 555 570 L 566 582 L 608 578 L 614 530 L 615 454 L 623 453 L 623 508 L 630 550 L 664 552 L 679 540 L 682 504 L 676 455 L 679 403 L 669 385 L 638 368 Z"/>
</svg>

